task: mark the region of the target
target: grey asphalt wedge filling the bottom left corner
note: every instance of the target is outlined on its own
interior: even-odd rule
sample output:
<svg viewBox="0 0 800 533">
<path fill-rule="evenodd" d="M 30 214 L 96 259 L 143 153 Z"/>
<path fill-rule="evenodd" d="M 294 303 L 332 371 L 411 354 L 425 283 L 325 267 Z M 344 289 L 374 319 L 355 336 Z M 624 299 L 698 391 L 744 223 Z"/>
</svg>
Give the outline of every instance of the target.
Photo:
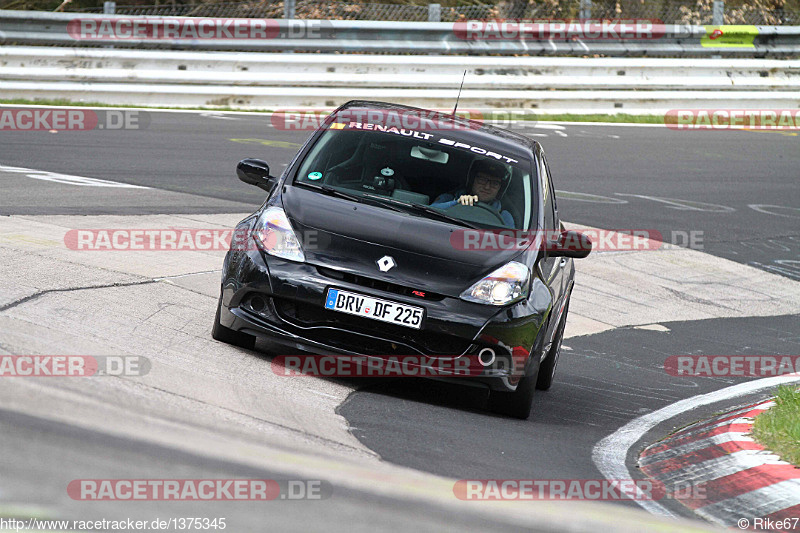
<svg viewBox="0 0 800 533">
<path fill-rule="evenodd" d="M 0 447 L 7 452 L 0 459 L 4 487 L 11 487 L 2 498 L 26 502 L 33 509 L 50 508 L 55 503 L 60 509 L 58 518 L 65 520 L 127 517 L 150 523 L 177 516 L 201 516 L 225 518 L 225 529 L 236 532 L 375 531 L 375 524 L 381 524 L 383 530 L 401 531 L 408 526 L 409 513 L 414 513 L 418 531 L 442 531 L 443 523 L 452 524 L 458 531 L 515 531 L 512 525 L 487 520 L 477 512 L 446 514 L 433 505 L 402 504 L 343 487 L 313 484 L 309 486 L 321 487 L 318 500 L 180 502 L 179 507 L 174 502 L 139 502 L 135 509 L 130 502 L 104 501 L 89 504 L 87 511 L 86 502 L 73 501 L 64 492 L 65 486 L 83 479 L 86 472 L 92 472 L 97 479 L 125 479 L 132 472 L 137 479 L 267 479 L 279 484 L 288 479 L 268 470 L 209 461 L 170 448 L 77 430 L 5 410 L 0 410 Z M 288 496 L 288 490 L 283 490 L 282 495 Z M 37 516 L 35 512 L 29 514 Z M 0 516 L 9 515 L 15 516 L 13 510 L 2 508 Z"/>
</svg>

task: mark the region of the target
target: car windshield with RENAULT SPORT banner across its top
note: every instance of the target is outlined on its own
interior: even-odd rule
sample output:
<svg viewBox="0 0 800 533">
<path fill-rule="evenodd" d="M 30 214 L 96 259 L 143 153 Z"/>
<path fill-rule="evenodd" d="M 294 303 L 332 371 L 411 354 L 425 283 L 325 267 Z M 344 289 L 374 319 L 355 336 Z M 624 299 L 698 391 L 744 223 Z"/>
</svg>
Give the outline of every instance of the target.
<svg viewBox="0 0 800 533">
<path fill-rule="evenodd" d="M 333 122 L 294 184 L 463 226 L 527 230 L 536 219 L 531 168 L 448 132 Z"/>
</svg>

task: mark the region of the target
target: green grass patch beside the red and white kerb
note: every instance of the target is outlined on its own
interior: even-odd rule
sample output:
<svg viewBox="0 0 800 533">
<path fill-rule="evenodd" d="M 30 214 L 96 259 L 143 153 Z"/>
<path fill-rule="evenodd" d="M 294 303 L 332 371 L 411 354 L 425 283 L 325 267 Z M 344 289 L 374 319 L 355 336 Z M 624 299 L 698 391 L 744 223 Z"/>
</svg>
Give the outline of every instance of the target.
<svg viewBox="0 0 800 533">
<path fill-rule="evenodd" d="M 782 385 L 775 395 L 775 407 L 758 415 L 753 438 L 781 459 L 800 466 L 800 390 Z"/>
</svg>

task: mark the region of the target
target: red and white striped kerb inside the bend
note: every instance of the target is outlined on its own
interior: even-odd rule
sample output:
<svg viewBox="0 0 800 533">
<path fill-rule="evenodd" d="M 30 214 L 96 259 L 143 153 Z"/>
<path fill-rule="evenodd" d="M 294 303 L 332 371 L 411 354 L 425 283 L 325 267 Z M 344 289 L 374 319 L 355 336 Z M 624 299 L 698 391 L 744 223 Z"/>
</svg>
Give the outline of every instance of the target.
<svg viewBox="0 0 800 533">
<path fill-rule="evenodd" d="M 725 526 L 758 518 L 781 524 L 800 516 L 800 468 L 764 449 L 749 436 L 753 418 L 772 407 L 765 401 L 693 424 L 646 448 L 642 473 L 671 487 L 691 483 L 687 497 L 676 496 L 698 515 Z M 741 526 L 739 526 L 741 527 Z M 789 529 L 770 528 L 780 531 Z"/>
</svg>

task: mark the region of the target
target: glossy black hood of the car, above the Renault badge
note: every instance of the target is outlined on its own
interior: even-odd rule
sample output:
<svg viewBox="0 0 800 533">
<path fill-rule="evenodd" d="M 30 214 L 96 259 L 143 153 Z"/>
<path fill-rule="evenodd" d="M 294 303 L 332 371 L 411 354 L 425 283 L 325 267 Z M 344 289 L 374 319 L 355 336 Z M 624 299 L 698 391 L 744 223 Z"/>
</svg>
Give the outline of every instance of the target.
<svg viewBox="0 0 800 533">
<path fill-rule="evenodd" d="M 282 201 L 298 233 L 317 232 L 318 246 L 303 250 L 307 263 L 448 296 L 521 253 L 462 250 L 451 238 L 463 227 L 301 187 L 286 187 Z M 381 272 L 377 261 L 386 255 L 396 266 Z"/>
</svg>

